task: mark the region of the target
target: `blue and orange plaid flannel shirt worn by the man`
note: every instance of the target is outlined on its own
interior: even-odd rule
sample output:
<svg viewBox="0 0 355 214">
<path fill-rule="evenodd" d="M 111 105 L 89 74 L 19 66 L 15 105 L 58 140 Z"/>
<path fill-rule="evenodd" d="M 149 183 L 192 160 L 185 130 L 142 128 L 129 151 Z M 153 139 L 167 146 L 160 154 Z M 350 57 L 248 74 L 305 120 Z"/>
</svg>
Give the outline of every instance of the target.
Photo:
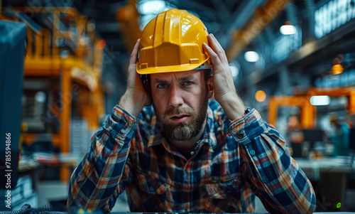
<svg viewBox="0 0 355 214">
<path fill-rule="evenodd" d="M 231 122 L 209 102 L 189 159 L 160 130 L 153 107 L 136 119 L 116 105 L 72 173 L 68 206 L 107 212 L 126 189 L 131 212 L 251 213 L 255 195 L 271 213 L 315 210 L 310 181 L 255 109 Z"/>
</svg>

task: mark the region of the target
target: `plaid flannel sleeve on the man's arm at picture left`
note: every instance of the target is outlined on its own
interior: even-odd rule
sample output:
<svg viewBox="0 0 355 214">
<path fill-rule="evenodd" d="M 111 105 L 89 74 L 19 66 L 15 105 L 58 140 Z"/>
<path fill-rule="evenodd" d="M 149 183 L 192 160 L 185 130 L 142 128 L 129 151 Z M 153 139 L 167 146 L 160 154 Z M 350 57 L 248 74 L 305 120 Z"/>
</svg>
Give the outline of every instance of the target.
<svg viewBox="0 0 355 214">
<path fill-rule="evenodd" d="M 138 119 L 116 105 L 106 124 L 91 139 L 89 152 L 70 178 L 68 210 L 101 209 L 104 213 L 114 207 L 126 185 L 132 183 L 126 164 Z"/>
</svg>

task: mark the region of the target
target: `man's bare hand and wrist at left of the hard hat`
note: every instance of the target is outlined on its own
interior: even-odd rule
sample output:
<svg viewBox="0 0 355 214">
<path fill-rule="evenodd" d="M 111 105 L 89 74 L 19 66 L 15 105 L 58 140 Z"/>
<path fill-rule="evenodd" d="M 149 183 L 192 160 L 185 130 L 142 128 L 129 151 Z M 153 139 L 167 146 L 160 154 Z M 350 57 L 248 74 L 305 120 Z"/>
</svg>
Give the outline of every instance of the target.
<svg viewBox="0 0 355 214">
<path fill-rule="evenodd" d="M 138 48 L 140 41 L 141 40 L 138 39 L 131 53 L 127 77 L 127 88 L 126 92 L 124 92 L 124 95 L 119 101 L 119 106 L 132 114 L 134 117 L 138 117 L 143 106 L 151 105 L 151 97 L 148 95 L 148 92 L 144 90 L 141 77 L 136 72 L 136 61 L 138 58 Z"/>
</svg>

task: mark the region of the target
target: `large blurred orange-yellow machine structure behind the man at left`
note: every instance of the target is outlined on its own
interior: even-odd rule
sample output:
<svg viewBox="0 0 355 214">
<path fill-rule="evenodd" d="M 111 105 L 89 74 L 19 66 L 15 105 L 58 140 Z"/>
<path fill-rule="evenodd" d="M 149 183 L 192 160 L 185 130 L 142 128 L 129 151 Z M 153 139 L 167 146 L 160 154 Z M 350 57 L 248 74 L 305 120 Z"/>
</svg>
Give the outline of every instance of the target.
<svg viewBox="0 0 355 214">
<path fill-rule="evenodd" d="M 0 14 L 0 18 L 9 21 L 23 21 L 19 14 L 33 15 L 38 13 L 53 15 L 51 28 L 41 28 L 40 31 L 28 24 L 28 46 L 24 65 L 26 78 L 39 77 L 43 80 L 55 80 L 58 84 L 51 85 L 57 93 L 57 102 L 50 103 L 50 111 L 60 122 L 58 134 L 51 134 L 54 146 L 62 153 L 70 151 L 70 122 L 72 112 L 73 85 L 80 85 L 80 99 L 75 103 L 80 109 L 80 116 L 86 118 L 88 129 L 97 129 L 99 116 L 104 113 L 104 99 L 102 92 L 102 47 L 97 42 L 102 39 L 93 30 L 89 30 L 86 16 L 74 8 L 55 7 L 16 7 L 12 8 L 14 16 Z M 73 31 L 60 30 L 61 21 L 74 23 Z M 69 55 L 64 58 L 58 46 L 58 40 L 68 39 L 74 46 L 67 49 Z M 74 48 L 73 48 L 74 47 Z M 59 96 L 58 96 L 59 94 Z M 59 102 L 58 102 L 59 101 Z M 58 106 L 58 103 L 60 105 Z M 25 143 L 31 144 L 36 134 L 28 133 Z M 62 181 L 68 181 L 70 175 L 66 168 L 62 168 Z"/>
</svg>

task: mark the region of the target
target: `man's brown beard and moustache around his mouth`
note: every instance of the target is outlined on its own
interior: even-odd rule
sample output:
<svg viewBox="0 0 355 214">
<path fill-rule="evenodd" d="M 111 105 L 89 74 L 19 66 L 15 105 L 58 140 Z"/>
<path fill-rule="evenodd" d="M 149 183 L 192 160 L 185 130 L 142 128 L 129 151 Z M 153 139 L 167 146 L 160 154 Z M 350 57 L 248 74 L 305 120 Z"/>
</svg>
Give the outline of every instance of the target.
<svg viewBox="0 0 355 214">
<path fill-rule="evenodd" d="M 154 110 L 156 109 L 153 105 Z M 207 107 L 208 107 L 208 95 L 204 98 L 204 103 L 202 103 L 200 107 L 200 114 L 190 108 L 190 107 L 178 107 L 173 109 L 167 109 L 163 115 L 156 114 L 157 121 L 160 124 L 163 124 L 162 133 L 168 139 L 172 139 L 175 141 L 187 141 L 197 136 L 202 129 L 202 125 L 204 120 L 206 119 L 207 115 Z M 189 114 L 190 117 L 195 118 L 192 122 L 180 122 L 176 123 L 169 123 L 168 118 L 173 116 L 174 114 Z M 162 117 L 165 116 L 166 121 L 163 120 Z"/>
</svg>

